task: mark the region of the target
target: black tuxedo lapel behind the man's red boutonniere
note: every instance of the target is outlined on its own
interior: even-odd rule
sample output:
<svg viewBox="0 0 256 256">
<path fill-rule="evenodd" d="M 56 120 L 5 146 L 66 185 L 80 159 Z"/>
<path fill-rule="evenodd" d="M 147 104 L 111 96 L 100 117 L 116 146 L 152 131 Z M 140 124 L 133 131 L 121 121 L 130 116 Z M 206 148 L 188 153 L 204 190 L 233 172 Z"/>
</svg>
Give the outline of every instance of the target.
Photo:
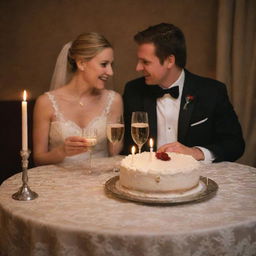
<svg viewBox="0 0 256 256">
<path fill-rule="evenodd" d="M 190 74 L 185 71 L 185 81 L 181 96 L 178 121 L 178 141 L 182 144 L 186 144 L 186 134 L 189 128 L 189 122 L 195 105 L 196 91 L 194 88 L 195 87 L 193 86 L 193 79 L 191 79 Z M 186 104 L 186 97 L 188 96 L 193 96 L 194 99 L 187 104 L 186 108 L 184 108 Z"/>
</svg>

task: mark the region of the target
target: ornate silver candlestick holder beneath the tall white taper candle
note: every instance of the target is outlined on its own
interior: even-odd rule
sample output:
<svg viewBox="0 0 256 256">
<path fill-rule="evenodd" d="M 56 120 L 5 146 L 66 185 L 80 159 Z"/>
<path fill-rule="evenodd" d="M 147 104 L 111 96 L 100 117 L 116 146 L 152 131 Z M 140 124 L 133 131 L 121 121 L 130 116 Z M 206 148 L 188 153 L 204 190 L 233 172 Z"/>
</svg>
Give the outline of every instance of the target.
<svg viewBox="0 0 256 256">
<path fill-rule="evenodd" d="M 12 195 L 12 198 L 19 201 L 34 200 L 38 197 L 38 194 L 32 191 L 28 186 L 28 158 L 30 150 L 21 150 L 21 162 L 22 162 L 22 186 L 19 191 Z"/>
</svg>

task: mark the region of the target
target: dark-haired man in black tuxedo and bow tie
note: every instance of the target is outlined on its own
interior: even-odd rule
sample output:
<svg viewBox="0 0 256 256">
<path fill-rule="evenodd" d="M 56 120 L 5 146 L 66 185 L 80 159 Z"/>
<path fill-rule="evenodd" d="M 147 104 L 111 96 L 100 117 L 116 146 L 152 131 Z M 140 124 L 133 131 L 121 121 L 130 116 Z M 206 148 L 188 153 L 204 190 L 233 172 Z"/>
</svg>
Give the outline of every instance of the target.
<svg viewBox="0 0 256 256">
<path fill-rule="evenodd" d="M 154 149 L 192 155 L 204 162 L 235 161 L 244 152 L 241 126 L 223 83 L 185 69 L 182 31 L 161 23 L 139 32 L 136 70 L 143 77 L 124 90 L 124 153 L 135 143 L 131 115 L 145 111 Z M 144 145 L 143 150 L 148 150 Z"/>
</svg>

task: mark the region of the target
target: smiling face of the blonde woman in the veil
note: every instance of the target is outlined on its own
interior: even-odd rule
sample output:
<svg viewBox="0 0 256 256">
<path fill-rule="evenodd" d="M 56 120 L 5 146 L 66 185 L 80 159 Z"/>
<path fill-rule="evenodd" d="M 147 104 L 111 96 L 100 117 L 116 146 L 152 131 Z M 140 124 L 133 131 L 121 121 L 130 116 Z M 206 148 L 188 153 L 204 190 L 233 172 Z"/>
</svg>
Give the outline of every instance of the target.
<svg viewBox="0 0 256 256">
<path fill-rule="evenodd" d="M 83 79 L 86 84 L 96 89 L 104 89 L 105 83 L 113 75 L 114 60 L 112 48 L 105 48 L 89 61 L 83 62 Z"/>
</svg>

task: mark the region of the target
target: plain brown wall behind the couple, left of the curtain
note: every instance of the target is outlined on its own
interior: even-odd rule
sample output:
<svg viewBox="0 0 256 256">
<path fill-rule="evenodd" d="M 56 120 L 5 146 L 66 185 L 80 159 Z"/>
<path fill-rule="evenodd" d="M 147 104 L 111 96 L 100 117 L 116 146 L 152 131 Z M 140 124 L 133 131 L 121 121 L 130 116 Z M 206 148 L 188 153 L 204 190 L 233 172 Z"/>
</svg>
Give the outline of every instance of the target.
<svg viewBox="0 0 256 256">
<path fill-rule="evenodd" d="M 187 68 L 215 77 L 217 0 L 1 0 L 0 100 L 18 100 L 23 89 L 36 98 L 49 88 L 61 47 L 83 32 L 104 34 L 115 48 L 120 93 L 135 72 L 133 35 L 160 22 L 181 27 Z"/>
</svg>

